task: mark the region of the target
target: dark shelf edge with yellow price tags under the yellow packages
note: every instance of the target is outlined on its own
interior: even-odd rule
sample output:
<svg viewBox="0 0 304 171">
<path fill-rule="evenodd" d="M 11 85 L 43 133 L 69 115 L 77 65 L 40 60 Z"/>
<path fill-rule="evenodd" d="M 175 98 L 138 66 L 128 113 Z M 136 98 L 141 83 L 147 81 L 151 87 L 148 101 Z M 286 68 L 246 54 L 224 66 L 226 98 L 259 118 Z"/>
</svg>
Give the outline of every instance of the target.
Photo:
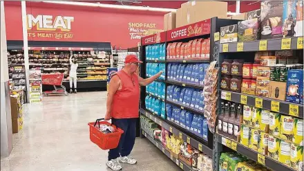
<svg viewBox="0 0 304 171">
<path fill-rule="evenodd" d="M 265 159 L 265 165 L 267 168 L 270 168 L 272 170 L 284 170 L 284 171 L 296 171 L 292 168 L 289 168 L 287 165 L 283 165 L 282 163 L 278 163 L 278 161 L 274 161 L 273 159 L 269 158 L 268 156 L 265 156 L 263 154 L 259 154 L 258 152 L 251 150 L 248 147 L 245 147 L 244 145 L 240 145 L 240 143 L 236 143 L 235 141 L 229 140 L 229 138 L 225 138 L 224 136 L 221 136 L 220 134 L 216 134 L 218 143 L 221 143 L 222 145 L 225 145 L 232 150 L 235 150 L 236 152 L 243 154 L 244 156 L 247 156 L 249 159 L 252 159 L 258 163 L 260 163 L 258 160 L 258 156 Z M 231 145 L 234 144 L 234 145 Z"/>
</svg>

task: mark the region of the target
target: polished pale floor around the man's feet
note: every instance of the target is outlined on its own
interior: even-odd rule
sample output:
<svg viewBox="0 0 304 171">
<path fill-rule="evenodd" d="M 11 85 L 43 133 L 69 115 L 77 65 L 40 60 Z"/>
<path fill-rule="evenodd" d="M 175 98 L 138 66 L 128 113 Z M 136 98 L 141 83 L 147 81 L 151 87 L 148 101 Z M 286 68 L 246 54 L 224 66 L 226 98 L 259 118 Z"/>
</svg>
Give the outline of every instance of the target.
<svg viewBox="0 0 304 171">
<path fill-rule="evenodd" d="M 1 171 L 109 170 L 108 152 L 91 143 L 87 125 L 104 116 L 105 91 L 49 96 L 23 108 L 23 130 L 13 135 L 14 149 L 1 159 Z M 131 156 L 137 164 L 124 164 L 125 171 L 180 170 L 146 138 L 136 139 Z"/>
</svg>

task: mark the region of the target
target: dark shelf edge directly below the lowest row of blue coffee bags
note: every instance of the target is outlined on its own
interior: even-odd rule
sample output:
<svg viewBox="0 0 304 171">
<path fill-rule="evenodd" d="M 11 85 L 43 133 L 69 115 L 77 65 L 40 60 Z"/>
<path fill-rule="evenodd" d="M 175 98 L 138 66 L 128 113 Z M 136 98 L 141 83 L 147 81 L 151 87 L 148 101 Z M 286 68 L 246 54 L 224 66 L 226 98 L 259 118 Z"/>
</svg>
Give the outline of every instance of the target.
<svg viewBox="0 0 304 171">
<path fill-rule="evenodd" d="M 209 147 L 207 147 L 207 141 L 203 140 L 202 138 L 199 138 L 195 134 L 192 134 L 191 132 L 187 131 L 187 129 L 184 129 L 178 125 L 175 125 L 174 123 L 171 123 L 169 120 L 165 120 L 164 118 L 153 114 L 150 111 L 147 111 L 146 109 L 140 109 L 140 113 L 144 116 L 150 118 L 155 123 L 163 127 L 164 129 L 167 129 L 172 134 L 175 134 L 175 136 L 179 136 L 182 138 L 185 142 L 191 144 L 196 149 L 200 150 L 201 152 L 204 152 L 207 154 L 207 156 L 210 156 L 212 158 L 213 151 Z M 195 137 L 195 138 L 193 138 Z"/>
</svg>

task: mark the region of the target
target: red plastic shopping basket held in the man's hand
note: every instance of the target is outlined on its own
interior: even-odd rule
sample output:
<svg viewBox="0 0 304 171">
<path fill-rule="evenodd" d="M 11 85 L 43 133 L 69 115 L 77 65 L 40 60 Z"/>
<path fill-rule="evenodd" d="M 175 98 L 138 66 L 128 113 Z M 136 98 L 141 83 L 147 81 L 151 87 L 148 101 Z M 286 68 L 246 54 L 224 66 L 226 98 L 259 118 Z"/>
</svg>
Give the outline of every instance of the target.
<svg viewBox="0 0 304 171">
<path fill-rule="evenodd" d="M 90 127 L 90 139 L 93 143 L 98 145 L 102 150 L 110 150 L 114 149 L 118 146 L 118 143 L 120 142 L 120 136 L 124 133 L 124 131 L 120 128 L 117 128 L 115 125 L 111 125 L 111 123 L 108 123 L 104 120 L 104 118 L 97 119 L 95 123 L 88 123 L 88 126 Z M 115 132 L 104 134 L 101 132 L 95 125 L 98 122 L 98 127 L 100 127 L 100 124 L 112 126 L 115 129 Z"/>
</svg>

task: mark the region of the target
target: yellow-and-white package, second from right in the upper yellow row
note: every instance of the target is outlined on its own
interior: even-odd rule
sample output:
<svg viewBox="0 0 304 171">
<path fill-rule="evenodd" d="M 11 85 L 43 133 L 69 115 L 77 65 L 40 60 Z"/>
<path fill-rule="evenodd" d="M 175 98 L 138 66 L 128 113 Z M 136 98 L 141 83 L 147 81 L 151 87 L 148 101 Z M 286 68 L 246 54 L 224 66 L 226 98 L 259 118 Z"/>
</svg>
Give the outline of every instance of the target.
<svg viewBox="0 0 304 171">
<path fill-rule="evenodd" d="M 280 138 L 292 141 L 294 134 L 294 118 L 292 116 L 281 116 L 281 132 Z"/>
</svg>

